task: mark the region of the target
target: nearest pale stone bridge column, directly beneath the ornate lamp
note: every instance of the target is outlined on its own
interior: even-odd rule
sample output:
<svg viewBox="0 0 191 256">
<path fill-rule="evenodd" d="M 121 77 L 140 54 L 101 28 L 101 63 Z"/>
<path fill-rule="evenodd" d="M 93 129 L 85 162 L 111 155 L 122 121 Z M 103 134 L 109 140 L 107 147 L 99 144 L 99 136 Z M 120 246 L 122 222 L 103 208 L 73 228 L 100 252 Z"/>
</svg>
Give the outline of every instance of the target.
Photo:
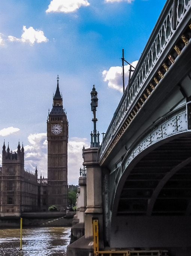
<svg viewBox="0 0 191 256">
<path fill-rule="evenodd" d="M 93 219 L 99 221 L 99 248 L 103 244 L 103 210 L 101 167 L 98 164 L 98 148 L 84 149 L 84 163 L 87 169 L 87 209 L 85 211 L 85 238 L 93 239 Z"/>
</svg>

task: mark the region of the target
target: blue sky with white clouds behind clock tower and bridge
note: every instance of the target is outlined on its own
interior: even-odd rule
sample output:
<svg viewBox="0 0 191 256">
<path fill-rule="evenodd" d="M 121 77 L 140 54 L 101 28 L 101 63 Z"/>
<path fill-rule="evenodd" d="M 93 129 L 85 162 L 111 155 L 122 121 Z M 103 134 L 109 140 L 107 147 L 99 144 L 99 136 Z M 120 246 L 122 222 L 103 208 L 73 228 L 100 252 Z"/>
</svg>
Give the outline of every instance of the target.
<svg viewBox="0 0 191 256">
<path fill-rule="evenodd" d="M 47 175 L 46 121 L 59 74 L 69 121 L 68 181 L 77 184 L 81 148 L 89 147 L 93 129 L 92 86 L 98 91 L 102 133 L 122 96 L 122 48 L 125 59 L 136 65 L 164 3 L 1 0 L 0 145 L 5 139 L 15 150 L 20 140 L 26 168 L 33 171 L 37 165 L 39 174 Z"/>
</svg>

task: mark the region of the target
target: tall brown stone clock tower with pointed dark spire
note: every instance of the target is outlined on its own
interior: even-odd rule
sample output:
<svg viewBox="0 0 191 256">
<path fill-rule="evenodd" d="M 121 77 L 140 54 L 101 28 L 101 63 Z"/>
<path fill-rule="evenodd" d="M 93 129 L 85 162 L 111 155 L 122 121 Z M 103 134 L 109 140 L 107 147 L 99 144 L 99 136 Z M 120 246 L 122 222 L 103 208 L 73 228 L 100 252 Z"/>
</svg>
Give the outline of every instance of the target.
<svg viewBox="0 0 191 256">
<path fill-rule="evenodd" d="M 67 206 L 68 196 L 68 120 L 63 110 L 59 77 L 57 77 L 53 108 L 48 114 L 47 140 L 48 207 L 55 205 L 63 212 Z"/>
</svg>

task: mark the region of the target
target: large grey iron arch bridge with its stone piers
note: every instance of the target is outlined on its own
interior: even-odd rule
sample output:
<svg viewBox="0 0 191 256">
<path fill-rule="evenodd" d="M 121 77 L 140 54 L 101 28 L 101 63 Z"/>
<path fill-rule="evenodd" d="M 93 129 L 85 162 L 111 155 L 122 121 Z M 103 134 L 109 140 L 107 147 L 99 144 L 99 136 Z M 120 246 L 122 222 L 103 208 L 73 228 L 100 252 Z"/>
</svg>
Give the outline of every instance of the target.
<svg viewBox="0 0 191 256">
<path fill-rule="evenodd" d="M 93 255 L 93 220 L 96 255 L 191 255 L 190 38 L 191 0 L 167 0 L 101 146 L 83 149 L 67 255 Z"/>
</svg>

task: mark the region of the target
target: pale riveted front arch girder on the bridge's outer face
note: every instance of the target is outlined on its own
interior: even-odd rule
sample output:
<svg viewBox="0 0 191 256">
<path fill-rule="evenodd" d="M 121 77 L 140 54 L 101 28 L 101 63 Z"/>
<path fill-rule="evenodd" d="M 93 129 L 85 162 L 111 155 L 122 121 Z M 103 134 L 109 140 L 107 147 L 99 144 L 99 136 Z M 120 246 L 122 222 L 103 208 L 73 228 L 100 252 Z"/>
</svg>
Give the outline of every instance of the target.
<svg viewBox="0 0 191 256">
<path fill-rule="evenodd" d="M 171 111 L 152 125 L 132 144 L 123 158 L 120 168 L 110 174 L 110 210 L 112 215 L 117 214 L 116 205 L 119 202 L 122 187 L 134 166 L 160 145 L 191 134 L 190 128 L 188 128 L 188 126 L 190 127 L 190 115 L 187 113 L 190 112 L 190 108 L 191 103 L 189 102 Z"/>
</svg>

